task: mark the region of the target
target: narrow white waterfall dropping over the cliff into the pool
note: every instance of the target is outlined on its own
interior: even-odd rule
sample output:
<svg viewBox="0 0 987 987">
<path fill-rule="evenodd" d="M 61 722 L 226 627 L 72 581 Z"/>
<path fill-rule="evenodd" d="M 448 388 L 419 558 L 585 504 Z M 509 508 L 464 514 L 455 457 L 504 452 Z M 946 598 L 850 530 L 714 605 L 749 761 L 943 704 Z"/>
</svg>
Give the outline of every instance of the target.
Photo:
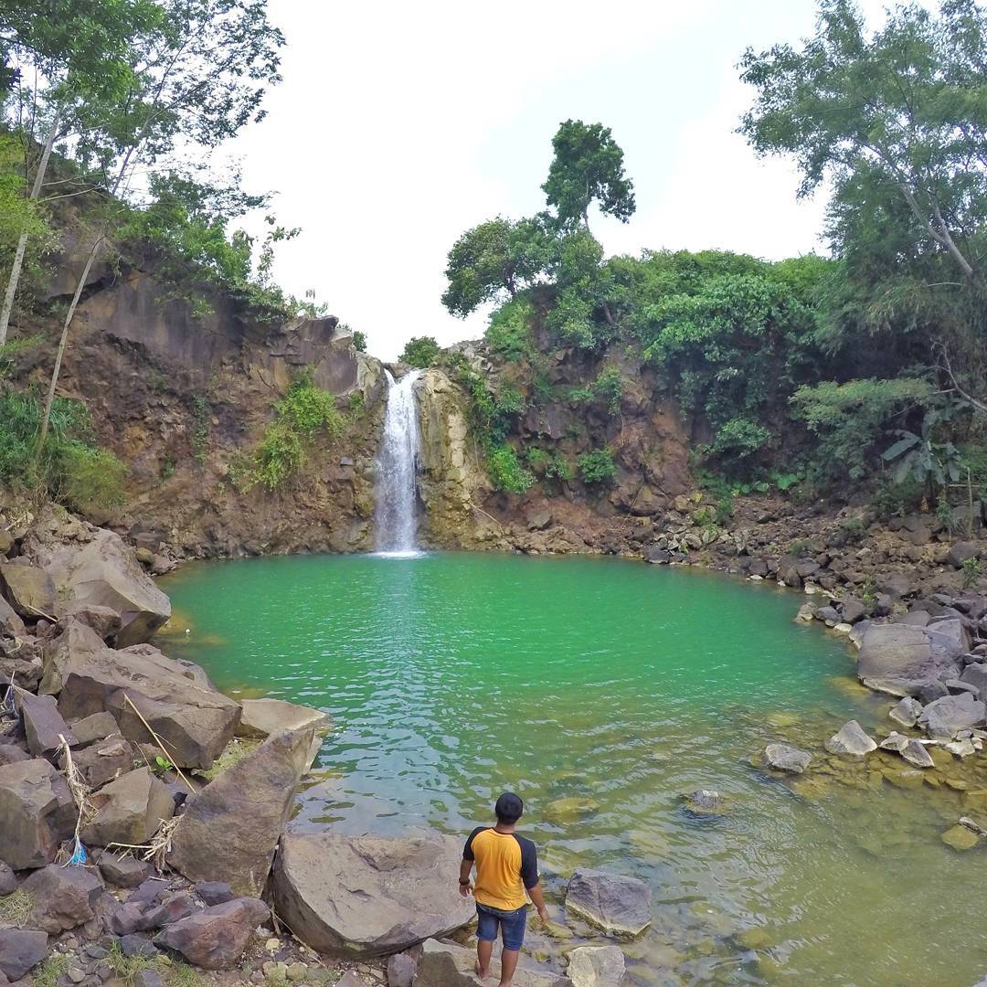
<svg viewBox="0 0 987 987">
<path fill-rule="evenodd" d="M 377 552 L 394 557 L 418 554 L 416 479 L 419 425 L 415 382 L 420 370 L 412 370 L 399 381 L 387 374 L 387 409 L 384 435 L 377 456 L 374 513 Z"/>
</svg>

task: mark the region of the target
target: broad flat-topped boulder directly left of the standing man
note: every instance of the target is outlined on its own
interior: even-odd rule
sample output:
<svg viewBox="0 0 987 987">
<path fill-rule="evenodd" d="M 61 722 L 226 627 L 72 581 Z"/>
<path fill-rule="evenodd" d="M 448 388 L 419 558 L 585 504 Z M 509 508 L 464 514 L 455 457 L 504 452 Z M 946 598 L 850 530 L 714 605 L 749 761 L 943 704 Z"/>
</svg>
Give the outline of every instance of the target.
<svg viewBox="0 0 987 987">
<path fill-rule="evenodd" d="M 455 893 L 461 860 L 450 836 L 285 833 L 274 861 L 274 908 L 320 952 L 400 952 L 473 918 L 472 903 Z"/>
</svg>

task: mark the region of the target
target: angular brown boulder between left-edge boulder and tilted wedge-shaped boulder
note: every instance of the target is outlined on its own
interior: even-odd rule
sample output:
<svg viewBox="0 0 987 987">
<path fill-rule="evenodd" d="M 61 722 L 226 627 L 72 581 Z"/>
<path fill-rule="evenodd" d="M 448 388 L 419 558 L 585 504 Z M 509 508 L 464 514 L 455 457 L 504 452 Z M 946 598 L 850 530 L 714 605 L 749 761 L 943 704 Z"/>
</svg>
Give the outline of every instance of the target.
<svg viewBox="0 0 987 987">
<path fill-rule="evenodd" d="M 82 842 L 87 846 L 139 846 L 175 814 L 175 800 L 149 768 L 121 775 L 90 800 L 96 814 L 82 831 Z"/>
</svg>

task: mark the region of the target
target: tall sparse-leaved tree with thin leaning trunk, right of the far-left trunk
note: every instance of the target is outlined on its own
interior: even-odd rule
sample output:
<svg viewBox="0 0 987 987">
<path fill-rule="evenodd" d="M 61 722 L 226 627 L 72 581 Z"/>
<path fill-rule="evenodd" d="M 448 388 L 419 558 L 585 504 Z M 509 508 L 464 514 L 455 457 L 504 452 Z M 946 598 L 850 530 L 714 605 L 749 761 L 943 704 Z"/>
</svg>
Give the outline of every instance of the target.
<svg viewBox="0 0 987 987">
<path fill-rule="evenodd" d="M 82 160 L 99 166 L 109 192 L 106 216 L 92 237 L 89 254 L 62 325 L 48 385 L 36 456 L 47 437 L 62 359 L 83 288 L 112 229 L 114 206 L 132 194 L 138 168 L 153 168 L 178 144 L 212 149 L 252 120 L 264 116 L 268 86 L 280 81 L 280 31 L 267 20 L 266 0 L 164 0 L 165 30 L 147 38 L 133 67 L 125 100 L 101 106 L 112 126 L 80 149 Z"/>
</svg>

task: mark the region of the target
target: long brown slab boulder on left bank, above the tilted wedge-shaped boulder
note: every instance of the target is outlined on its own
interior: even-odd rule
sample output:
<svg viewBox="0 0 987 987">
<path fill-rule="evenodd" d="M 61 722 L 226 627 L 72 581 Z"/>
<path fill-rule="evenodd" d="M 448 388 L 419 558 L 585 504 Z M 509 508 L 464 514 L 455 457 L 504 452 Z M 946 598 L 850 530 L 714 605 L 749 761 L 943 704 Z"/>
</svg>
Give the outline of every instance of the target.
<svg viewBox="0 0 987 987">
<path fill-rule="evenodd" d="M 211 768 L 240 721 L 239 704 L 217 692 L 201 668 L 150 645 L 71 655 L 62 674 L 58 706 L 67 720 L 109 710 L 127 739 L 152 743 L 129 699 L 180 768 Z"/>
</svg>

